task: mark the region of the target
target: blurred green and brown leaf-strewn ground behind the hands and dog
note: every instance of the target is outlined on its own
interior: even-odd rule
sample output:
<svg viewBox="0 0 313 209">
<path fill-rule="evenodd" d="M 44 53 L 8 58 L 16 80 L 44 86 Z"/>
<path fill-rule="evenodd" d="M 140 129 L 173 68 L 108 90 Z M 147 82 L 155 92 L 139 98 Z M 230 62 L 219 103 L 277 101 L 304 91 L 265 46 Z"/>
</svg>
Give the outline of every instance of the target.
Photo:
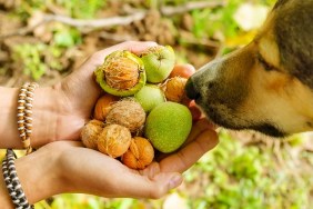
<svg viewBox="0 0 313 209">
<path fill-rule="evenodd" d="M 265 12 L 275 2 L 275 0 L 206 1 L 222 4 L 158 19 L 162 26 L 165 23 L 169 27 L 169 30 L 161 33 L 170 32 L 171 39 L 164 40 L 173 40 L 161 43 L 174 47 L 179 62 L 191 62 L 200 67 L 215 56 L 228 53 L 248 43 L 263 22 Z M 18 20 L 16 28 L 19 28 L 21 24 L 32 26 L 31 21 L 40 22 L 42 13 L 90 20 L 123 16 L 125 12 L 121 6 L 155 10 L 164 6 L 180 7 L 190 2 L 196 0 L 23 0 L 4 12 L 10 20 L 11 18 Z M 156 21 L 156 18 L 152 19 Z M 1 23 L 4 22 L 0 19 L 0 37 Z M 144 26 L 147 28 L 143 29 Z M 26 37 L 31 38 L 31 42 L 24 41 L 26 37 L 19 37 L 18 41 L 0 39 L 0 77 L 10 78 L 20 70 L 28 79 L 44 82 L 51 79 L 46 78 L 48 71 L 52 70 L 60 74 L 70 71 L 82 57 L 120 42 L 125 36 L 137 38 L 140 36 L 139 32 L 143 31 L 144 36 L 141 36 L 140 40 L 161 40 L 155 38 L 159 33 L 154 36 L 155 32 L 160 32 L 159 24 L 154 32 L 149 26 L 135 22 L 128 27 L 117 26 L 84 31 L 60 22 L 50 22 L 27 33 Z M 145 33 L 149 33 L 148 38 L 144 38 Z M 118 41 L 112 41 L 114 39 Z M 7 54 L 7 62 L 1 61 L 3 56 L 1 52 L 4 57 Z M 245 137 L 245 140 L 249 137 Z M 67 193 L 38 202 L 36 208 L 309 209 L 313 205 L 313 176 L 312 169 L 307 169 L 313 167 L 313 153 L 304 148 L 303 136 L 294 136 L 279 142 L 271 139 L 260 143 L 243 141 L 226 131 L 221 131 L 220 145 L 184 173 L 185 182 L 179 189 L 160 200 L 105 199 Z M 276 150 L 273 145 L 280 145 L 280 149 Z M 0 158 L 2 157 L 3 151 L 0 151 Z"/>
</svg>

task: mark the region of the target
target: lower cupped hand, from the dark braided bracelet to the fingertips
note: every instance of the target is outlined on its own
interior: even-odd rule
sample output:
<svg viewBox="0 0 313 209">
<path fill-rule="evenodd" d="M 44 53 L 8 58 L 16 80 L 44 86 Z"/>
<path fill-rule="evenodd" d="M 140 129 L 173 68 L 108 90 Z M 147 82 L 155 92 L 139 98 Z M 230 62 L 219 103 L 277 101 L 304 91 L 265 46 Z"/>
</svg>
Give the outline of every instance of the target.
<svg viewBox="0 0 313 209">
<path fill-rule="evenodd" d="M 63 192 L 101 197 L 160 198 L 182 182 L 181 173 L 218 145 L 205 119 L 198 121 L 179 151 L 132 170 L 119 160 L 82 147 L 79 141 L 49 143 L 19 158 L 17 172 L 30 202 Z"/>
</svg>

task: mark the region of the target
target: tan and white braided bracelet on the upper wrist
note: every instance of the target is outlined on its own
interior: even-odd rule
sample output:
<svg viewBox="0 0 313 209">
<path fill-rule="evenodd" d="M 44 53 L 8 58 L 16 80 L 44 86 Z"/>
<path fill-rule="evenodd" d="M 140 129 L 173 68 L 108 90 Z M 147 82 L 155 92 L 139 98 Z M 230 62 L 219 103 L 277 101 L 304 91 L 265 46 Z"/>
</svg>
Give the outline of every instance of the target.
<svg viewBox="0 0 313 209">
<path fill-rule="evenodd" d="M 30 137 L 32 132 L 32 101 L 34 89 L 38 88 L 36 82 L 24 83 L 19 93 L 18 99 L 18 130 L 27 155 L 32 151 Z"/>
</svg>

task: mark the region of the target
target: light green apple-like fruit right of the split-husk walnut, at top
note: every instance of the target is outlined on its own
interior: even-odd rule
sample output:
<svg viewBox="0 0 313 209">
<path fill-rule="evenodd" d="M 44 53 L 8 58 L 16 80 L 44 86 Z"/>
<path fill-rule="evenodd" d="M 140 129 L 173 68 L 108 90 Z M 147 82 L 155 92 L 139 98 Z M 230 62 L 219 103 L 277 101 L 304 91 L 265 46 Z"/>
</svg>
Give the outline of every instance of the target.
<svg viewBox="0 0 313 209">
<path fill-rule="evenodd" d="M 175 52 L 170 46 L 149 48 L 141 56 L 147 80 L 152 83 L 165 80 L 175 66 Z"/>
</svg>

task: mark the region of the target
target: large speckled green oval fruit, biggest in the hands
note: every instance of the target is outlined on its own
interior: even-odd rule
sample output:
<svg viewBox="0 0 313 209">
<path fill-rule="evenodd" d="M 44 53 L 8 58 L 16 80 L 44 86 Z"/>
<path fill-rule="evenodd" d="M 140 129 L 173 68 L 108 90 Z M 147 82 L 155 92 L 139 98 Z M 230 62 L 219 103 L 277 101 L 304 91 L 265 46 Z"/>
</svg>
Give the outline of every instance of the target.
<svg viewBox="0 0 313 209">
<path fill-rule="evenodd" d="M 169 153 L 183 145 L 191 127 L 192 116 L 189 109 L 183 104 L 168 101 L 149 113 L 144 136 L 155 149 Z"/>
</svg>

